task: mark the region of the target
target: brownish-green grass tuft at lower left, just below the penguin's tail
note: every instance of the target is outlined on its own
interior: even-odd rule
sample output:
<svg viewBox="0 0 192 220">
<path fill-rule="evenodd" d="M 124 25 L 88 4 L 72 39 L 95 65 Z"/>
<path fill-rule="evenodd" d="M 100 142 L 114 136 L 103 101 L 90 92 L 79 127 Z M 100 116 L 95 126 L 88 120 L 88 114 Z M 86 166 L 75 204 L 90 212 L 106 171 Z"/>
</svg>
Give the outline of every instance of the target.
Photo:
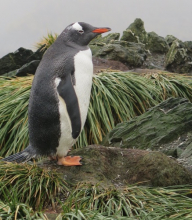
<svg viewBox="0 0 192 220">
<path fill-rule="evenodd" d="M 55 196 L 64 194 L 68 188 L 62 177 L 54 170 L 37 165 L 0 162 L 0 198 L 2 201 L 17 198 L 20 203 L 42 209 L 46 205 L 55 208 Z"/>
</svg>

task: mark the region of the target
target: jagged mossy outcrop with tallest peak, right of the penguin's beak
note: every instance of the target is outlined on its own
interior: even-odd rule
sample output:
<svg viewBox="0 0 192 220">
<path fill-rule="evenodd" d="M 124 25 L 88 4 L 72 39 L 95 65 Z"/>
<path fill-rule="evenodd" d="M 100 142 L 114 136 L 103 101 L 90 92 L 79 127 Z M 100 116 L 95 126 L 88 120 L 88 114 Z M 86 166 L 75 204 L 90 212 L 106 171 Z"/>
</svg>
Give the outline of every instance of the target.
<svg viewBox="0 0 192 220">
<path fill-rule="evenodd" d="M 117 33 L 109 34 L 91 42 L 93 55 L 118 60 L 127 65 L 129 69 L 135 67 L 164 69 L 164 54 L 168 51 L 169 46 L 163 37 L 154 32 L 147 33 L 141 19 L 136 19 L 123 32 L 120 40 L 118 37 Z M 163 62 L 158 60 L 163 60 Z"/>
</svg>

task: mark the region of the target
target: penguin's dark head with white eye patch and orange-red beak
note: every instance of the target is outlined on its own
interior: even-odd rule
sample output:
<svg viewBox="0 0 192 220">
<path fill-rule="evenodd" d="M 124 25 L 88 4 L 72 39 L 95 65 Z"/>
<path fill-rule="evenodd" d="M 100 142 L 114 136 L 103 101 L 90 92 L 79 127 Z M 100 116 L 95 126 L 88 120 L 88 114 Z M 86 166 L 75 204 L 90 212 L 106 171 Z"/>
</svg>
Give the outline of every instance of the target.
<svg viewBox="0 0 192 220">
<path fill-rule="evenodd" d="M 98 28 L 84 22 L 76 22 L 66 27 L 63 33 L 66 41 L 72 41 L 80 46 L 86 46 L 97 35 L 110 30 L 108 27 Z"/>
</svg>

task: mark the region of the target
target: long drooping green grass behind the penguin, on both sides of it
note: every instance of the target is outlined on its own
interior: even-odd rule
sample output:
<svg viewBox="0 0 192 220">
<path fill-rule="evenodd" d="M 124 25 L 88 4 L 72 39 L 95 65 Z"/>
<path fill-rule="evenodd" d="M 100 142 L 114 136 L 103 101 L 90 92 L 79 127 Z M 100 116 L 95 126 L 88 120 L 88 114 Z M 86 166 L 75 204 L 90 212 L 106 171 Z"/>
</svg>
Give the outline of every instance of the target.
<svg viewBox="0 0 192 220">
<path fill-rule="evenodd" d="M 28 145 L 27 108 L 32 76 L 0 78 L 0 155 Z M 192 101 L 192 80 L 173 74 L 111 72 L 93 77 L 85 127 L 74 147 L 97 144 L 114 126 L 169 97 Z"/>
</svg>

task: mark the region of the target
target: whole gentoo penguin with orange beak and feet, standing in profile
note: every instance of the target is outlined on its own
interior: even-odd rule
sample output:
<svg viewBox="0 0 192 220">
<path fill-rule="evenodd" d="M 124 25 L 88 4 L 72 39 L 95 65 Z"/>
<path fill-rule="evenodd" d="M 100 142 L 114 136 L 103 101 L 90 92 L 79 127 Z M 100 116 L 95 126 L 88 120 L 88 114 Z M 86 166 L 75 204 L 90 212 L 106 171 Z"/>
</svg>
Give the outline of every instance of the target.
<svg viewBox="0 0 192 220">
<path fill-rule="evenodd" d="M 67 26 L 49 47 L 32 83 L 29 146 L 4 161 L 20 163 L 37 156 L 56 156 L 59 165 L 81 165 L 80 156 L 66 155 L 87 117 L 93 75 L 88 44 L 110 30 L 76 22 Z"/>
</svg>

